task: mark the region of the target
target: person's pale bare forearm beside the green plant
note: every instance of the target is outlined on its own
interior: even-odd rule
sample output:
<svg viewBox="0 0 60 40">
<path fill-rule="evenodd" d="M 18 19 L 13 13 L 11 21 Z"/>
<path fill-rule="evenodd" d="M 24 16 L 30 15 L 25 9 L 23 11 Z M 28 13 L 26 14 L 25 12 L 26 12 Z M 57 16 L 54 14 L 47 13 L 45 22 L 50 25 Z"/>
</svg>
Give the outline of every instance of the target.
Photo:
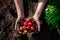
<svg viewBox="0 0 60 40">
<path fill-rule="evenodd" d="M 46 2 L 47 2 L 47 0 L 45 0 L 43 2 L 40 2 L 40 0 L 38 1 L 38 6 L 37 6 L 36 12 L 34 14 L 35 18 L 38 19 L 40 17 L 41 12 L 43 11 L 43 8 L 45 7 Z"/>
</svg>

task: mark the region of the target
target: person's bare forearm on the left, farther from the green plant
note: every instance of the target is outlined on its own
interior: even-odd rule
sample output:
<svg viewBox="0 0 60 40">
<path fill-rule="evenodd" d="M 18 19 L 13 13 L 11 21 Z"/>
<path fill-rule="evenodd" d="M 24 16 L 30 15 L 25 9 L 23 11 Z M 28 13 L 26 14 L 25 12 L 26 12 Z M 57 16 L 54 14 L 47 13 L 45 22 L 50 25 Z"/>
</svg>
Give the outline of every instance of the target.
<svg viewBox="0 0 60 40">
<path fill-rule="evenodd" d="M 18 17 L 24 16 L 23 0 L 14 0 Z"/>
</svg>

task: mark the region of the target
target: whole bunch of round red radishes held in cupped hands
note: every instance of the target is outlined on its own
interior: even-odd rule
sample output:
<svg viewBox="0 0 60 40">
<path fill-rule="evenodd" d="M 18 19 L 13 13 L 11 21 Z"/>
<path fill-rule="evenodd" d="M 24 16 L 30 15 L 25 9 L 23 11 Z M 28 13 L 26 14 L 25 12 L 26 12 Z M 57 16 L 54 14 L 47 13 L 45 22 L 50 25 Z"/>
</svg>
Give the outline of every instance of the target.
<svg viewBox="0 0 60 40">
<path fill-rule="evenodd" d="M 22 34 L 34 32 L 36 29 L 36 23 L 33 18 L 24 18 L 19 24 L 19 30 Z"/>
</svg>

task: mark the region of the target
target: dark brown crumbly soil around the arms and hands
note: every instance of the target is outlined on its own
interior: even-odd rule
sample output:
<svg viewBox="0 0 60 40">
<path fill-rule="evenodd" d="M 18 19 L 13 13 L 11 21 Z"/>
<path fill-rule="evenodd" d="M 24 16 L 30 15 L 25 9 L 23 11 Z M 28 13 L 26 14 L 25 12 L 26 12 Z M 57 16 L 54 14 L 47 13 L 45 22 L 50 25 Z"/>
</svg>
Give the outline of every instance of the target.
<svg viewBox="0 0 60 40">
<path fill-rule="evenodd" d="M 36 0 L 24 0 L 26 17 L 33 15 L 36 7 Z M 16 19 L 17 12 L 14 1 L 0 0 L 0 40 L 29 40 L 26 35 L 20 36 L 20 34 L 14 30 Z M 30 40 L 60 40 L 60 35 L 56 29 L 49 31 L 44 18 L 42 18 L 42 21 L 41 32 L 33 34 Z"/>
</svg>

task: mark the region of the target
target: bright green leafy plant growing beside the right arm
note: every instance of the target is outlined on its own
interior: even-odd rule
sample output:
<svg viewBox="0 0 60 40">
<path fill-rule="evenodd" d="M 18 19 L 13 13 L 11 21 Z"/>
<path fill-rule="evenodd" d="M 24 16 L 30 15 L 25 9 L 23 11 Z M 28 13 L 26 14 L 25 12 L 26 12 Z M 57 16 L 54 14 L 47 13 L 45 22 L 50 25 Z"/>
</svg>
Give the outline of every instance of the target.
<svg viewBox="0 0 60 40">
<path fill-rule="evenodd" d="M 52 30 L 53 28 L 57 28 L 60 26 L 60 8 L 59 4 L 60 0 L 49 0 L 49 3 L 46 6 L 45 9 L 45 19 L 46 22 L 49 25 L 49 30 Z"/>
</svg>

